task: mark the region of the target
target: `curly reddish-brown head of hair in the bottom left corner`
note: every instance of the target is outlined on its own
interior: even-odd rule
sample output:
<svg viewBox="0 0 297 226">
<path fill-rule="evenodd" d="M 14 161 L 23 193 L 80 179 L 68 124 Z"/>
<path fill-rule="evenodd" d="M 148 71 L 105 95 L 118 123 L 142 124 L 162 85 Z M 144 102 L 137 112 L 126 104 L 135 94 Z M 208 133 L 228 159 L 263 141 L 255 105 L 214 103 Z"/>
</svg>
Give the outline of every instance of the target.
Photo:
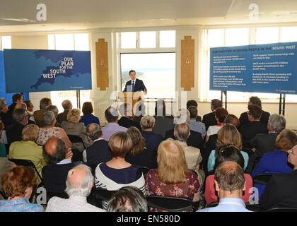
<svg viewBox="0 0 297 226">
<path fill-rule="evenodd" d="M 17 166 L 4 172 L 1 177 L 4 194 L 8 199 L 30 198 L 36 177 L 33 167 Z"/>
</svg>

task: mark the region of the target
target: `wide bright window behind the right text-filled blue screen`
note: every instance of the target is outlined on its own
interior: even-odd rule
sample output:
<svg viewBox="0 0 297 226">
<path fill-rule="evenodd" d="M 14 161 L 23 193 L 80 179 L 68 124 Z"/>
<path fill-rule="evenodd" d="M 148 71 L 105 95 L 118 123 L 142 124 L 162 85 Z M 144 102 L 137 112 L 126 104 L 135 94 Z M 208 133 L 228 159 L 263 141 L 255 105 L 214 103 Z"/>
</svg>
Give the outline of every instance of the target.
<svg viewBox="0 0 297 226">
<path fill-rule="evenodd" d="M 205 77 L 201 81 L 201 100 L 210 101 L 221 97 L 221 91 L 209 90 L 209 49 L 211 47 L 294 41 L 297 41 L 297 27 L 204 29 L 202 31 L 200 74 Z M 233 91 L 228 91 L 228 101 L 247 102 L 248 97 L 252 95 L 257 95 L 263 102 L 279 102 L 279 94 Z M 296 100 L 297 95 L 286 95 L 286 102 L 296 102 Z"/>
</svg>

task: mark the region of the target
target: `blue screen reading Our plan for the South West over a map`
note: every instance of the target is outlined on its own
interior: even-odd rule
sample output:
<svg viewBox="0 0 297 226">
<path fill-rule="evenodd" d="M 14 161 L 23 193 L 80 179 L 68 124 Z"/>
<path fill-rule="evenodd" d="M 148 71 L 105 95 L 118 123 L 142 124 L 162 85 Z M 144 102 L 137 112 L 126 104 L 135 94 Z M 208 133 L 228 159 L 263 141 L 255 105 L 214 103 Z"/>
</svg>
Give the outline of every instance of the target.
<svg viewBox="0 0 297 226">
<path fill-rule="evenodd" d="M 6 92 L 91 90 L 91 52 L 4 49 Z"/>
</svg>

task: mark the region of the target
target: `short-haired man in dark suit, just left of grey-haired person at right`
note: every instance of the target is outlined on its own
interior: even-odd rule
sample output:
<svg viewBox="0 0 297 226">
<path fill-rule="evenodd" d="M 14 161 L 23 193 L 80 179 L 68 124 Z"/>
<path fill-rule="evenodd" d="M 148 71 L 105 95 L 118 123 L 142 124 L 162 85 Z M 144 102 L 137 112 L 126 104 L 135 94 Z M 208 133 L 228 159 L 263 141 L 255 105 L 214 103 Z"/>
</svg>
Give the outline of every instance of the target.
<svg viewBox="0 0 297 226">
<path fill-rule="evenodd" d="M 243 148 L 248 149 L 249 154 L 252 154 L 252 147 L 250 147 L 250 141 L 258 133 L 267 134 L 267 125 L 262 124 L 260 121 L 262 114 L 262 109 L 258 105 L 250 105 L 248 107 L 248 119 L 250 124 L 245 124 L 240 126 L 240 133 L 243 139 Z"/>
</svg>

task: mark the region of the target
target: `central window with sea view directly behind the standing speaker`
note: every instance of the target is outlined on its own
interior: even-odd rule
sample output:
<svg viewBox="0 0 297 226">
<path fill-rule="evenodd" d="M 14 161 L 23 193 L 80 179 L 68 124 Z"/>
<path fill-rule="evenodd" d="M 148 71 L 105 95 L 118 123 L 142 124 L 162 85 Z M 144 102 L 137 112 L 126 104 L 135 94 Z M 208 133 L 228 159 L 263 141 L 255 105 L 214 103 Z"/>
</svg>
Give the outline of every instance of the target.
<svg viewBox="0 0 297 226">
<path fill-rule="evenodd" d="M 175 98 L 175 30 L 117 33 L 120 90 L 136 71 L 144 81 L 146 99 Z"/>
</svg>

